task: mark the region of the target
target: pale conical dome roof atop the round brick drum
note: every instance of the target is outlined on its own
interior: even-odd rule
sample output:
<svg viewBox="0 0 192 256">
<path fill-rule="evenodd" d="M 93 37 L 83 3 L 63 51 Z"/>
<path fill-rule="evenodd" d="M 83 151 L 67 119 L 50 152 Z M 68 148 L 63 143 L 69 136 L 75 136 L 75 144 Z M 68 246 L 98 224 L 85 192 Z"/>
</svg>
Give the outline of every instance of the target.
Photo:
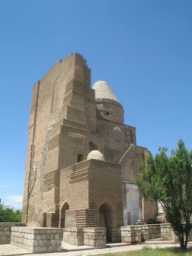
<svg viewBox="0 0 192 256">
<path fill-rule="evenodd" d="M 98 81 L 93 84 L 92 87 L 95 90 L 95 99 L 108 99 L 108 100 L 115 100 L 120 103 L 117 98 L 115 97 L 114 93 L 111 91 L 111 88 L 105 81 Z"/>
</svg>

